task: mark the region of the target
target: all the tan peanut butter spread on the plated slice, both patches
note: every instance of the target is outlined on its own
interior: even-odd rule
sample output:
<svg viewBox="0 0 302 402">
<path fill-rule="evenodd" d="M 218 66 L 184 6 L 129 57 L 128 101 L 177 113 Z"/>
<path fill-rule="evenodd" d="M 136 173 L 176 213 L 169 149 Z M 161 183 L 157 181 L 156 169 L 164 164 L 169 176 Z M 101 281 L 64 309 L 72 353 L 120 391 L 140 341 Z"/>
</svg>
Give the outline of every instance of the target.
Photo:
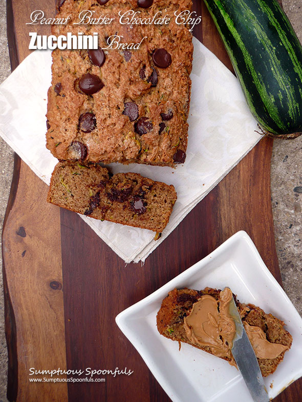
<svg viewBox="0 0 302 402">
<path fill-rule="evenodd" d="M 190 342 L 208 346 L 215 356 L 228 358 L 228 363 L 236 366 L 231 352 L 236 332 L 235 323 L 229 314 L 232 292 L 225 288 L 219 297 L 216 300 L 210 295 L 203 295 L 184 318 L 184 328 Z M 246 322 L 244 327 L 257 358 L 274 359 L 288 350 L 288 346 L 270 343 L 260 327 Z"/>
</svg>

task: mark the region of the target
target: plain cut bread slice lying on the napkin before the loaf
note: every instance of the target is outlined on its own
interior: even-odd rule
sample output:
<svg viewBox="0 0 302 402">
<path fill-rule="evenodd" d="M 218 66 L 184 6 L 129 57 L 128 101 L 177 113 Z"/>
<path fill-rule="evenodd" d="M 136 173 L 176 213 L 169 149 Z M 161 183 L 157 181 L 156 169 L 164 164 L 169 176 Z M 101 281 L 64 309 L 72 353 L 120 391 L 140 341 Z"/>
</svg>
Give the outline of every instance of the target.
<svg viewBox="0 0 302 402">
<path fill-rule="evenodd" d="M 47 201 L 99 220 L 161 233 L 177 199 L 173 185 L 137 173 L 111 175 L 94 163 L 57 163 Z"/>
</svg>

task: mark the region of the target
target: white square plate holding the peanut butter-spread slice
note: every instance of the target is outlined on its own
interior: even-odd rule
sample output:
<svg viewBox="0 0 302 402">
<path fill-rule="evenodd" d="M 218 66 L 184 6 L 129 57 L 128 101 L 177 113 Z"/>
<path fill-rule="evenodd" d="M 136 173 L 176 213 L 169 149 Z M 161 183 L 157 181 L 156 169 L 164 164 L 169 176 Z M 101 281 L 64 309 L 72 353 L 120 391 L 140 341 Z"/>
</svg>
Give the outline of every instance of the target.
<svg viewBox="0 0 302 402">
<path fill-rule="evenodd" d="M 252 402 L 236 368 L 188 344 L 183 343 L 179 351 L 178 342 L 158 333 L 156 315 L 169 291 L 184 287 L 201 290 L 207 286 L 218 289 L 228 286 L 241 302 L 258 305 L 287 324 L 293 343 L 276 371 L 264 379 L 270 398 L 302 376 L 302 319 L 248 234 L 240 231 L 116 317 L 124 335 L 174 402 Z"/>
</svg>

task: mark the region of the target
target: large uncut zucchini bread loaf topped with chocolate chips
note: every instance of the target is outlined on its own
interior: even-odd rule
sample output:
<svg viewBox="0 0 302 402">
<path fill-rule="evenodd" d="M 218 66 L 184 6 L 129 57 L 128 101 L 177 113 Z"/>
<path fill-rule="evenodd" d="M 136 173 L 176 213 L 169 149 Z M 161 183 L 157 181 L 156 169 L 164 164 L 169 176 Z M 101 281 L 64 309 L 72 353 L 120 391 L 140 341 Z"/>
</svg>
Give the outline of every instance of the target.
<svg viewBox="0 0 302 402">
<path fill-rule="evenodd" d="M 191 10 L 191 0 L 154 0 L 147 8 L 137 0 L 61 1 L 54 25 L 56 36 L 79 32 L 98 34 L 99 50 L 55 50 L 48 91 L 47 148 L 59 160 L 183 163 L 187 148 L 189 75 L 192 35 L 174 13 Z M 79 22 L 88 10 L 111 22 Z M 170 17 L 167 24 L 120 23 L 120 14 L 133 10 L 140 18 Z M 126 17 L 125 17 L 126 18 Z M 114 35 L 139 49 L 105 49 Z M 115 46 L 114 46 L 115 47 Z"/>
</svg>

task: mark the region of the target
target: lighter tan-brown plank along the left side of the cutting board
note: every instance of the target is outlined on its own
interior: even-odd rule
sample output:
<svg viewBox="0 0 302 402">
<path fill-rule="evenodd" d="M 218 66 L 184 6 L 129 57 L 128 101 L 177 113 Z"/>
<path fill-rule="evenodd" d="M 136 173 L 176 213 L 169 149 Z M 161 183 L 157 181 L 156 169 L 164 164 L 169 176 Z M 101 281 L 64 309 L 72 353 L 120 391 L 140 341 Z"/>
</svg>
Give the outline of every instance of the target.
<svg viewBox="0 0 302 402">
<path fill-rule="evenodd" d="M 28 32 L 48 28 L 25 23 L 37 3 L 7 1 L 12 70 L 28 54 Z M 45 4 L 54 15 L 54 4 Z M 48 186 L 15 155 L 2 233 L 9 400 L 67 400 L 66 383 L 30 383 L 29 369 L 66 368 L 60 214 L 45 201 Z M 60 286 L 59 286 L 60 287 Z M 36 376 L 37 377 L 37 376 Z"/>
</svg>

